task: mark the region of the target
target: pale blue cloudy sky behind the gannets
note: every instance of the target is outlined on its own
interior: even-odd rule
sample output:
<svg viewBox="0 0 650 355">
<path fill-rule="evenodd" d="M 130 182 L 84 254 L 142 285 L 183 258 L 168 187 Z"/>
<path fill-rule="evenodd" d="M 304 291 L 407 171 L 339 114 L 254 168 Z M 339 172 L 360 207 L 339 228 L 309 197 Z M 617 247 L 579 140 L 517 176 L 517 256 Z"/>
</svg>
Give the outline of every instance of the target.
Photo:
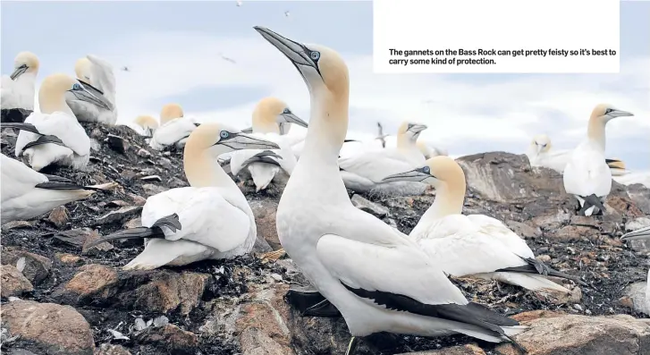
<svg viewBox="0 0 650 355">
<path fill-rule="evenodd" d="M 74 74 L 82 55 L 113 63 L 121 123 L 157 117 L 178 102 L 199 121 L 247 126 L 257 101 L 276 96 L 308 120 L 308 91 L 291 63 L 252 26 L 339 51 L 350 68 L 350 138 L 426 123 L 424 139 L 459 156 L 523 153 L 546 133 L 555 148 L 586 135 L 592 108 L 636 114 L 609 123 L 607 155 L 650 168 L 650 2 L 620 5 L 620 74 L 373 74 L 372 3 L 334 2 L 5 2 L 2 73 L 22 50 L 38 55 L 38 80 Z M 285 11 L 290 16 L 284 15 Z M 29 19 L 29 25 L 26 23 Z M 323 19 L 335 19 L 328 22 Z M 434 21 L 435 19 L 432 19 Z M 606 21 L 601 19 L 599 21 Z M 553 21 L 549 21 L 553 26 Z M 232 58 L 236 63 L 223 59 Z M 122 66 L 130 72 L 122 72 Z"/>
</svg>

